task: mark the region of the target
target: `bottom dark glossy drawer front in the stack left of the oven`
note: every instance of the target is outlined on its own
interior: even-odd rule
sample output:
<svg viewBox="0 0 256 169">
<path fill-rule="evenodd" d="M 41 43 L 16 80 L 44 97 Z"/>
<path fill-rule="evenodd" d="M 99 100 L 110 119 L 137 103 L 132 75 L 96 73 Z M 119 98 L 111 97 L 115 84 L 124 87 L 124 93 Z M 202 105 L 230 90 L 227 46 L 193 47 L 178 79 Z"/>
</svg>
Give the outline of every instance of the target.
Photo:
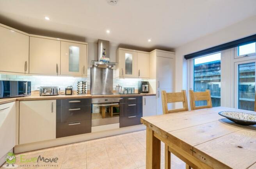
<svg viewBox="0 0 256 169">
<path fill-rule="evenodd" d="M 91 132 L 91 120 L 70 121 L 56 124 L 56 138 Z"/>
</svg>

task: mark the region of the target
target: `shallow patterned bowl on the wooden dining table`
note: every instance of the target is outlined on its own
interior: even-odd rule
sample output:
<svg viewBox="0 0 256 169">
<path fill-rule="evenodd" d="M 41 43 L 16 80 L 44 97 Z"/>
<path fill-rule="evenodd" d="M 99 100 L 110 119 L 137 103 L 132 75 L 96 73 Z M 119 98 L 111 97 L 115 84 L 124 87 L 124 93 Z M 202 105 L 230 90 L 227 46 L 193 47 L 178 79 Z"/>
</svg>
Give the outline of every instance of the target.
<svg viewBox="0 0 256 169">
<path fill-rule="evenodd" d="M 256 114 L 235 112 L 235 111 L 221 111 L 220 116 L 226 117 L 227 119 L 234 121 L 240 125 L 255 125 Z"/>
</svg>

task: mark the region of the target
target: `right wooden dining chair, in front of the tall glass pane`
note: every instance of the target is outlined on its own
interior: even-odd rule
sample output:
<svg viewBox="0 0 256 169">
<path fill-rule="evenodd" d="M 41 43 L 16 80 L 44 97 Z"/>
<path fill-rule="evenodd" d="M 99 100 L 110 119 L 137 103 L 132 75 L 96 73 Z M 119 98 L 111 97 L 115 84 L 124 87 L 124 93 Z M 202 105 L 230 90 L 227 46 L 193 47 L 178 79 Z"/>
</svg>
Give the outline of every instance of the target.
<svg viewBox="0 0 256 169">
<path fill-rule="evenodd" d="M 190 108 L 191 110 L 197 109 L 205 109 L 212 107 L 212 98 L 210 90 L 205 90 L 205 92 L 194 92 L 193 90 L 189 90 L 190 97 Z M 206 100 L 207 105 L 205 106 L 196 106 L 196 101 Z"/>
</svg>

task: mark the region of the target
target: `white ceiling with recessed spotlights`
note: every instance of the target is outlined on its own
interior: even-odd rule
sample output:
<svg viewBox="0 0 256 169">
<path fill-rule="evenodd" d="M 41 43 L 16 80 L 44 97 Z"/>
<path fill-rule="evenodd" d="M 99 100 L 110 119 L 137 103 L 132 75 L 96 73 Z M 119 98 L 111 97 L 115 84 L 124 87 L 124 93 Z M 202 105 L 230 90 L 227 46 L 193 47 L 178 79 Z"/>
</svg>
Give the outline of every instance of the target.
<svg viewBox="0 0 256 169">
<path fill-rule="evenodd" d="M 255 6 L 256 0 L 0 0 L 0 23 L 39 35 L 173 49 L 256 16 Z"/>
</svg>

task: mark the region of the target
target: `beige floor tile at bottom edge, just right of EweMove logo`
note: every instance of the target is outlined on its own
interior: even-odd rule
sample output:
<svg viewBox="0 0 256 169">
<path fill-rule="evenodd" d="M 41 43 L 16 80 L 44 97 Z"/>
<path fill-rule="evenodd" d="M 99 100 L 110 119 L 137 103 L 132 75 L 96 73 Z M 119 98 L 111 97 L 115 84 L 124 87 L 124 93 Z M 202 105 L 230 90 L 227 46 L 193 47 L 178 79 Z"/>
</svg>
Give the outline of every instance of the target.
<svg viewBox="0 0 256 169">
<path fill-rule="evenodd" d="M 86 165 L 86 153 L 84 154 L 65 154 L 61 169 L 71 169 L 81 165 Z"/>
</svg>

